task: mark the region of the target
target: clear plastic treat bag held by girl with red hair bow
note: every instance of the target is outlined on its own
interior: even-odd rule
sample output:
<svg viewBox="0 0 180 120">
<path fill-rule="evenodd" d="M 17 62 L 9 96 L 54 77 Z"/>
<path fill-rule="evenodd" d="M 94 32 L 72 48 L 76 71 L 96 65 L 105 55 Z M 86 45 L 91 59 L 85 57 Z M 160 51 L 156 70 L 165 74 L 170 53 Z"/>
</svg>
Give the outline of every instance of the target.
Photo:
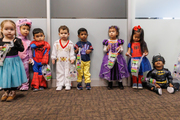
<svg viewBox="0 0 180 120">
<path fill-rule="evenodd" d="M 144 57 L 144 54 L 142 55 L 141 59 L 131 58 L 131 74 L 133 76 L 138 77 L 138 73 L 139 73 L 139 69 L 140 69 L 140 65 L 141 65 L 141 61 L 143 57 Z"/>
</svg>

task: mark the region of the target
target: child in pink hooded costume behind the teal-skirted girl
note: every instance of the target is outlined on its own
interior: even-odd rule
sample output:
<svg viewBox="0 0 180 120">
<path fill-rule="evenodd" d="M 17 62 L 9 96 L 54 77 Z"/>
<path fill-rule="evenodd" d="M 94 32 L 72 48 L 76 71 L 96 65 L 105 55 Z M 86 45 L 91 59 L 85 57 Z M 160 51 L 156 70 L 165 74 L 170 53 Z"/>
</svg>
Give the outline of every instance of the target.
<svg viewBox="0 0 180 120">
<path fill-rule="evenodd" d="M 18 32 L 18 38 L 22 40 L 22 43 L 24 45 L 24 51 L 19 52 L 18 55 L 21 58 L 24 68 L 26 71 L 27 76 L 27 82 L 23 83 L 21 88 L 19 90 L 28 90 L 29 89 L 29 61 L 32 61 L 32 51 L 30 47 L 31 41 L 27 39 L 27 36 L 29 35 L 29 31 L 31 28 L 31 20 L 29 19 L 19 19 L 16 22 L 17 32 Z"/>
</svg>

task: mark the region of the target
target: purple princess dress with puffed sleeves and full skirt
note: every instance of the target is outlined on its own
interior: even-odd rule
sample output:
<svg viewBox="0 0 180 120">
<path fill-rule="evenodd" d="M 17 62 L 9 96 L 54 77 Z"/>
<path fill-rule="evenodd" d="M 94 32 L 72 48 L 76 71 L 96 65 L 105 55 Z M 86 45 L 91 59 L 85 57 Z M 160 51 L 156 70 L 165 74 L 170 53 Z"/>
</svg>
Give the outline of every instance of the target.
<svg viewBox="0 0 180 120">
<path fill-rule="evenodd" d="M 111 45 L 111 52 L 117 52 L 116 48 L 124 43 L 124 40 L 118 39 L 117 41 L 113 41 L 113 43 L 110 43 L 110 40 L 104 40 L 103 45 L 108 46 L 108 44 Z M 129 72 L 127 69 L 127 64 L 124 59 L 124 57 L 119 54 L 117 56 L 117 60 L 115 61 L 115 64 L 112 69 L 108 68 L 108 52 L 103 57 L 101 70 L 99 73 L 99 77 L 106 79 L 106 80 L 120 80 L 123 78 L 127 78 L 129 76 Z"/>
</svg>

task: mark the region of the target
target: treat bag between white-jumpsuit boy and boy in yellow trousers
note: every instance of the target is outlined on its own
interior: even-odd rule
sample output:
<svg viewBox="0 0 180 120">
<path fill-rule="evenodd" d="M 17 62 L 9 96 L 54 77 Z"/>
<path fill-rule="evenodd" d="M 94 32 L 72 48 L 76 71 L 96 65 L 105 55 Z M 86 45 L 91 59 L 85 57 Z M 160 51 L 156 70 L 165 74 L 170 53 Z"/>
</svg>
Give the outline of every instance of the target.
<svg viewBox="0 0 180 120">
<path fill-rule="evenodd" d="M 75 65 L 70 65 L 69 68 L 69 74 L 67 76 L 68 79 L 70 79 L 71 81 L 76 81 L 77 80 L 77 70 L 76 70 L 76 66 Z"/>
</svg>

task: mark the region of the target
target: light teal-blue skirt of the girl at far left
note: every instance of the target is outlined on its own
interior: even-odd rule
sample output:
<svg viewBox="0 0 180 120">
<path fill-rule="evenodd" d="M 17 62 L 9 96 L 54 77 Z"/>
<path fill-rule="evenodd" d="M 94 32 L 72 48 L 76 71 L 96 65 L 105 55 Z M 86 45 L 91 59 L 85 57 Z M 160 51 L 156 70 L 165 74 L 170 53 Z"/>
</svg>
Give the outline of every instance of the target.
<svg viewBox="0 0 180 120">
<path fill-rule="evenodd" d="M 7 56 L 3 66 L 0 66 L 0 87 L 19 87 L 27 82 L 26 72 L 18 55 Z"/>
</svg>

